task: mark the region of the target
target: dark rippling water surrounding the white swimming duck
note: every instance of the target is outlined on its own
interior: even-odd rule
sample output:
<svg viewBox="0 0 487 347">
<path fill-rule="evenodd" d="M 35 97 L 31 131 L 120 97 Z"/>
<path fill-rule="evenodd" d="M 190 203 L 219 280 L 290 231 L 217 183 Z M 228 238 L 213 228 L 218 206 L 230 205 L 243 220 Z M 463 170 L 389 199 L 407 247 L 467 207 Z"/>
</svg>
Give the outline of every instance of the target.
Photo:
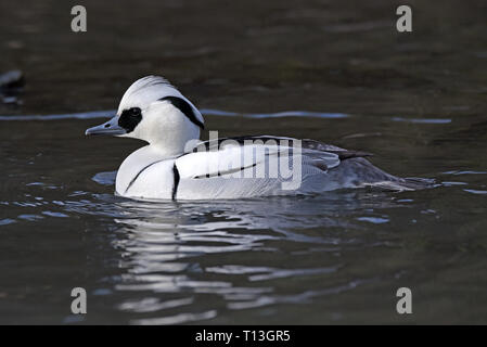
<svg viewBox="0 0 487 347">
<path fill-rule="evenodd" d="M 0 66 L 26 85 L 0 103 L 0 323 L 487 323 L 487 8 L 410 3 L 398 34 L 396 2 L 85 1 L 73 34 L 75 3 L 2 2 Z M 146 74 L 220 136 L 317 139 L 439 185 L 115 197 L 141 143 L 86 139 L 105 113 L 76 113 L 116 108 Z M 71 314 L 77 286 L 86 316 Z"/>
</svg>

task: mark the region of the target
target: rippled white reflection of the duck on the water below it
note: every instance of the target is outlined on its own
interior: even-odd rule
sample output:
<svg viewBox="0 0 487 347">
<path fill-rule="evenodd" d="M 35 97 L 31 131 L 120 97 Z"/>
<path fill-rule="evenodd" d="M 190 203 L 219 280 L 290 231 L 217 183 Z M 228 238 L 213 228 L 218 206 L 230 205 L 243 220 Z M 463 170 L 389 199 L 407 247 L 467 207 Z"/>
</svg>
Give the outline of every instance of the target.
<svg viewBox="0 0 487 347">
<path fill-rule="evenodd" d="M 114 286 L 131 293 L 118 309 L 141 313 L 133 323 L 200 321 L 333 291 L 322 288 L 324 283 L 289 287 L 287 281 L 338 271 L 343 248 L 360 243 L 338 232 L 360 227 L 350 217 L 397 205 L 363 192 L 191 203 L 98 198 L 115 216 L 119 236 L 112 245 L 123 259 L 123 274 Z"/>
</svg>

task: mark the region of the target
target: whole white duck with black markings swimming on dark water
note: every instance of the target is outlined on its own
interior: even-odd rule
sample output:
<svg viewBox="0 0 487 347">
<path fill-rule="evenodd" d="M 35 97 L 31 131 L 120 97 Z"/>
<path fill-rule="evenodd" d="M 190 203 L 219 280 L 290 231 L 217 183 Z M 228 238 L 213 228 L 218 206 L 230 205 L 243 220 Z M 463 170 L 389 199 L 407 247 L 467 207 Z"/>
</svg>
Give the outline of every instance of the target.
<svg viewBox="0 0 487 347">
<path fill-rule="evenodd" d="M 198 140 L 203 117 L 161 77 L 136 81 L 118 115 L 87 133 L 148 141 L 120 165 L 116 193 L 149 200 L 245 198 L 296 195 L 380 185 L 410 190 L 421 184 L 392 176 L 363 156 L 313 140 L 240 137 Z"/>
</svg>

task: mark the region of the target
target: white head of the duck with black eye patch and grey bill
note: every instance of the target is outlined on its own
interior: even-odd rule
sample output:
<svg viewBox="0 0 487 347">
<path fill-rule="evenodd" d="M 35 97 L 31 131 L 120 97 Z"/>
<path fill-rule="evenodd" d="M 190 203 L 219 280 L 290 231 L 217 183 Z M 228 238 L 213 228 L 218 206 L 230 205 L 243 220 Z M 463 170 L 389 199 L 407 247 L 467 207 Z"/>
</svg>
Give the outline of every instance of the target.
<svg viewBox="0 0 487 347">
<path fill-rule="evenodd" d="M 203 123 L 200 111 L 166 79 L 146 76 L 127 89 L 115 117 L 86 134 L 140 139 L 176 155 L 200 139 Z"/>
</svg>

